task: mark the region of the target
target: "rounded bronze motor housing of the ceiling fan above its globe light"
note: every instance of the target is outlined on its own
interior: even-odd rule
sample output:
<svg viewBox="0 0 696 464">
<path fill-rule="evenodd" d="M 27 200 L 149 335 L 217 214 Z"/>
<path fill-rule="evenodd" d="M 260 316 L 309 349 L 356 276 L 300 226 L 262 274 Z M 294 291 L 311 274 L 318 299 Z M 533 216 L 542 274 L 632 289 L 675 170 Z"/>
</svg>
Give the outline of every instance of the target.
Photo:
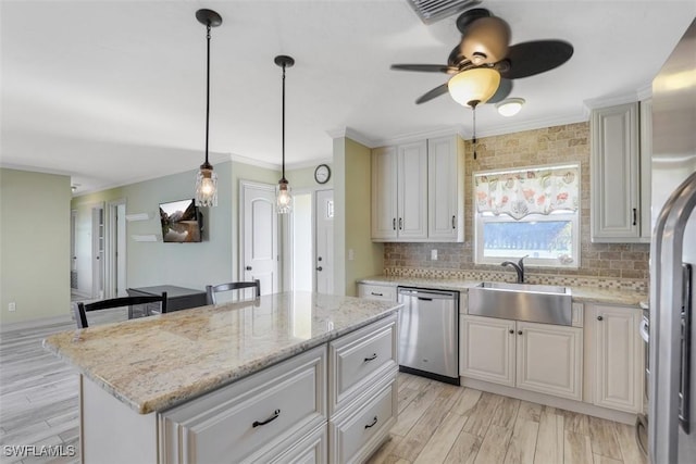
<svg viewBox="0 0 696 464">
<path fill-rule="evenodd" d="M 461 38 L 461 54 L 475 65 L 493 64 L 508 54 L 510 26 L 499 17 L 475 20 Z"/>
</svg>

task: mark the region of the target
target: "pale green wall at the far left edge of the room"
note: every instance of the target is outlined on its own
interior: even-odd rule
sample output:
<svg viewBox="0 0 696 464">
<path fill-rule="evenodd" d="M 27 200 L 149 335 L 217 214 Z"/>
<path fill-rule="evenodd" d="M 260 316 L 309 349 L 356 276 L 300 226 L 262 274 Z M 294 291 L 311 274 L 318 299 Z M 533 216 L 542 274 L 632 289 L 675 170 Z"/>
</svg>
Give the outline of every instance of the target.
<svg viewBox="0 0 696 464">
<path fill-rule="evenodd" d="M 71 197 L 69 176 L 0 168 L 0 324 L 70 314 Z"/>
</svg>

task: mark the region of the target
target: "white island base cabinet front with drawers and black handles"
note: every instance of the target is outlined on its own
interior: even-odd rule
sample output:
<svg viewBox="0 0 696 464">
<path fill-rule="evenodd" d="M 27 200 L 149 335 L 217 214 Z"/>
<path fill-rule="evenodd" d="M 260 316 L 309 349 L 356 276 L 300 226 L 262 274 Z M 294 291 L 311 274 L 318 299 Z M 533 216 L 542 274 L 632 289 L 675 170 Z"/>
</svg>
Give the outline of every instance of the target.
<svg viewBox="0 0 696 464">
<path fill-rule="evenodd" d="M 163 463 L 365 461 L 397 418 L 397 314 L 159 414 Z"/>
</svg>

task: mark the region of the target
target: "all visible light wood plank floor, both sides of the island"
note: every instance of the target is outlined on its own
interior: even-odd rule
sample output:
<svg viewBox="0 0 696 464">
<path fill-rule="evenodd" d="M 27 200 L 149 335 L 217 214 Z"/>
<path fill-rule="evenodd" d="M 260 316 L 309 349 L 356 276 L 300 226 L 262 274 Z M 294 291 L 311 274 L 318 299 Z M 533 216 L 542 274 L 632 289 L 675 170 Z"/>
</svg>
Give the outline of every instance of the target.
<svg viewBox="0 0 696 464">
<path fill-rule="evenodd" d="M 101 322 L 125 318 L 122 310 Z M 74 323 L 0 335 L 0 462 L 73 463 L 79 456 L 13 457 L 4 446 L 75 447 L 77 375 L 45 351 L 50 334 Z M 643 464 L 627 425 L 422 377 L 399 374 L 399 418 L 376 463 Z"/>
</svg>

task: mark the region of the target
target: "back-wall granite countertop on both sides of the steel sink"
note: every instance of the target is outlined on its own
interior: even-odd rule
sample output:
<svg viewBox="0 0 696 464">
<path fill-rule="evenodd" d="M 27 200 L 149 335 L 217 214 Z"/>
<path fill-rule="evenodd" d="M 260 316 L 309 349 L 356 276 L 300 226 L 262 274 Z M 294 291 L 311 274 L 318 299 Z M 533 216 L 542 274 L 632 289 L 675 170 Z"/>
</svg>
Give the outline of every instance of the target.
<svg viewBox="0 0 696 464">
<path fill-rule="evenodd" d="M 414 278 L 398 276 L 374 276 L 358 280 L 361 284 L 389 285 L 406 287 L 422 287 L 439 290 L 468 291 L 469 288 L 481 284 L 481 280 Z M 641 301 L 648 296 L 635 290 L 598 288 L 598 287 L 570 287 L 573 301 L 579 303 L 609 303 L 623 304 L 639 308 Z"/>
</svg>

